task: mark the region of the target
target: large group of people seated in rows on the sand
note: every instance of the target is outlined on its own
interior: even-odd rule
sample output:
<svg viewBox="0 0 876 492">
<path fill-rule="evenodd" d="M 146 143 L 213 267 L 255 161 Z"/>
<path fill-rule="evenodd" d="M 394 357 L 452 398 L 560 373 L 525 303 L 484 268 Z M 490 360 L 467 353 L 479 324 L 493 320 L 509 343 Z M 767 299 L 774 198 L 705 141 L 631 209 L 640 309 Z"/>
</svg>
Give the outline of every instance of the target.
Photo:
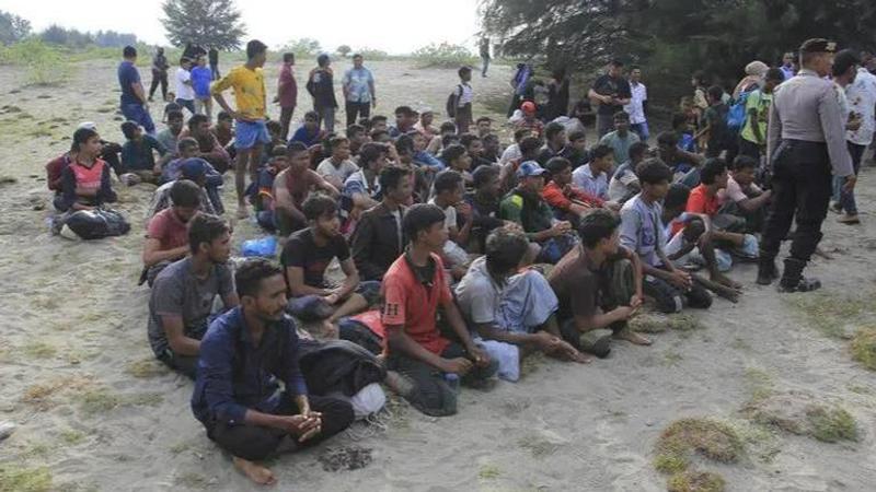
<svg viewBox="0 0 876 492">
<path fill-rule="evenodd" d="M 229 140 L 198 115 L 183 130 L 171 112 L 157 139 L 123 124 L 116 174 L 161 184 L 142 254 L 151 348 L 196 380 L 195 415 L 256 481 L 273 480 L 257 461 L 367 415 L 374 383 L 450 415 L 460 383 L 515 382 L 531 353 L 586 363 L 612 339 L 650 344 L 627 324 L 645 300 L 669 314 L 739 294 L 726 272 L 757 257 L 770 199 L 752 159 L 704 160 L 673 132 L 649 149 L 623 113 L 590 149 L 558 121 L 502 149 L 488 118 L 460 136 L 433 117 L 402 106 L 393 127 L 338 136 L 308 114 L 275 138 L 250 199 L 279 262 L 235 269 L 218 216 Z M 82 127 L 47 165 L 59 211 L 115 199 L 105 149 Z"/>
</svg>

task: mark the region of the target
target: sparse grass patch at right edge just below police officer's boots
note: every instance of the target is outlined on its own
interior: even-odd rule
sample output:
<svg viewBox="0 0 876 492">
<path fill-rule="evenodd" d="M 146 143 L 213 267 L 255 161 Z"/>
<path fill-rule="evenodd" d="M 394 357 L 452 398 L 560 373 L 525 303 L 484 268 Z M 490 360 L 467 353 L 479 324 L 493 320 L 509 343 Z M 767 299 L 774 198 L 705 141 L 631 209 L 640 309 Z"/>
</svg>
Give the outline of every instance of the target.
<svg viewBox="0 0 876 492">
<path fill-rule="evenodd" d="M 802 324 L 827 337 L 840 339 L 852 338 L 849 327 L 872 313 L 872 293 L 848 296 L 837 292 L 812 292 L 782 297 L 792 307 L 793 316 Z"/>
</svg>

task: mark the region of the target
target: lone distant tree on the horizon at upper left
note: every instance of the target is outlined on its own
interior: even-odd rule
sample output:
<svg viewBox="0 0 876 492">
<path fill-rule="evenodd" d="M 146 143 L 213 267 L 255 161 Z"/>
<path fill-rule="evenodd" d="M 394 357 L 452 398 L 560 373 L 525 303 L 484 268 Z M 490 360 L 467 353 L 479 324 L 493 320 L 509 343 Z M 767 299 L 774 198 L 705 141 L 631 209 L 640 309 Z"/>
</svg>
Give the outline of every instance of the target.
<svg viewBox="0 0 876 492">
<path fill-rule="evenodd" d="M 235 49 L 246 28 L 233 0 L 165 0 L 161 20 L 168 40 L 175 46 L 186 43 L 216 49 Z"/>
</svg>

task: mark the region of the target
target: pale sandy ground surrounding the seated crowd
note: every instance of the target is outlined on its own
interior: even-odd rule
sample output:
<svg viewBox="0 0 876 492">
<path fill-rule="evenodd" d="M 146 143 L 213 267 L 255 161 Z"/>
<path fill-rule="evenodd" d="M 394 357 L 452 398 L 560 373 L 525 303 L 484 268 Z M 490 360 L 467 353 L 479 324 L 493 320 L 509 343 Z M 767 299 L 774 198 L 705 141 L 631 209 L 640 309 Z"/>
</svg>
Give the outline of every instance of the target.
<svg viewBox="0 0 876 492">
<path fill-rule="evenodd" d="M 456 77 L 400 61 L 369 66 L 382 114 L 403 103 L 442 110 Z M 304 73 L 298 70 L 299 80 Z M 269 67 L 272 87 L 276 74 Z M 491 78 L 476 77 L 474 89 L 499 94 L 509 74 L 496 67 Z M 104 138 L 122 139 L 115 62 L 78 66 L 59 87 L 24 86 L 24 80 L 22 70 L 0 67 L 0 107 L 21 108 L 0 109 L 0 176 L 14 179 L 0 179 L 0 421 L 18 424 L 0 442 L 0 490 L 14 490 L 12 476 L 27 473 L 36 489 L 50 477 L 51 489 L 65 491 L 255 490 L 192 417 L 192 383 L 163 368 L 149 349 L 149 292 L 136 285 L 149 188 L 119 188 L 117 208 L 132 223 L 127 236 L 74 243 L 49 235 L 45 223 L 43 166 L 69 145 L 62 138 L 93 120 Z M 300 103 L 309 106 L 303 95 Z M 463 390 L 452 418 L 428 418 L 393 400 L 382 417 L 385 431 L 359 425 L 274 460 L 276 489 L 666 490 L 667 477 L 652 464 L 665 427 L 707 417 L 747 429 L 741 409 L 781 390 L 841 405 L 858 424 L 858 442 L 763 431 L 752 434 L 738 462 L 700 459 L 698 469 L 723 475 L 736 491 L 872 490 L 876 382 L 837 333 L 873 326 L 875 184 L 865 168 L 863 225 L 828 218 L 822 248 L 833 259 L 817 257 L 810 267 L 826 285 L 825 294 L 808 297 L 815 303 L 802 306 L 757 286 L 753 267 L 740 266 L 731 276 L 746 284 L 741 301 L 716 300 L 707 316 L 695 314 L 701 329 L 653 335 L 650 348 L 619 343 L 590 365 L 535 360 L 517 384 Z M 230 181 L 224 194 L 232 216 Z M 239 223 L 235 246 L 257 235 Z M 370 449 L 370 464 L 325 471 L 320 456 L 349 446 Z"/>
</svg>

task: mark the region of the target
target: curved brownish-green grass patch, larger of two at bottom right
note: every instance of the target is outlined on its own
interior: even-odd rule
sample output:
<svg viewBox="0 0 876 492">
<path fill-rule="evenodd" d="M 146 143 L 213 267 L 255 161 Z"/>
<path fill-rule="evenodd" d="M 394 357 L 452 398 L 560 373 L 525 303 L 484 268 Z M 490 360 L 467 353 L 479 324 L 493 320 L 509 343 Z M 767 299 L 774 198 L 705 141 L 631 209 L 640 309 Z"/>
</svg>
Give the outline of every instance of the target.
<svg viewBox="0 0 876 492">
<path fill-rule="evenodd" d="M 685 470 L 694 454 L 719 462 L 736 462 L 745 453 L 737 432 L 713 419 L 681 419 L 672 422 L 657 441 L 654 467 L 665 473 Z"/>
</svg>

